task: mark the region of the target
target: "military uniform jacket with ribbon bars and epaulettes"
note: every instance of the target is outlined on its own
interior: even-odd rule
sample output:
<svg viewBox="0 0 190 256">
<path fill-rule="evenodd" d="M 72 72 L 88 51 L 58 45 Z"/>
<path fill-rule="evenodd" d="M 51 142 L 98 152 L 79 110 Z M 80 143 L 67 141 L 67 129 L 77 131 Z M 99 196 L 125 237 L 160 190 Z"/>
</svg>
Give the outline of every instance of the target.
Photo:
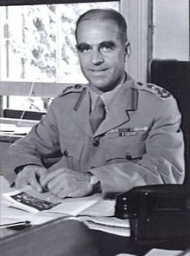
<svg viewBox="0 0 190 256">
<path fill-rule="evenodd" d="M 94 135 L 89 109 L 86 86 L 58 95 L 48 114 L 9 148 L 3 167 L 9 182 L 16 179 L 16 167 L 26 164 L 91 171 L 104 195 L 184 180 L 181 116 L 167 90 L 128 76 Z"/>
</svg>

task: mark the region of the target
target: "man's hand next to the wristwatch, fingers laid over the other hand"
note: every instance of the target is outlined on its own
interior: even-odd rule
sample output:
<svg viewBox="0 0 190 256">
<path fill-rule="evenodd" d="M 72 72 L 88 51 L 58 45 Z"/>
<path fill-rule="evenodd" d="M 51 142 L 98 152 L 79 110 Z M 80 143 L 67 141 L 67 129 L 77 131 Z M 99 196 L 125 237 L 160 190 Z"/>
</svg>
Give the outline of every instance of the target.
<svg viewBox="0 0 190 256">
<path fill-rule="evenodd" d="M 60 198 L 82 197 L 92 192 L 90 174 L 79 173 L 62 167 L 46 176 L 41 176 L 42 187 L 48 187 L 52 194 Z"/>
</svg>

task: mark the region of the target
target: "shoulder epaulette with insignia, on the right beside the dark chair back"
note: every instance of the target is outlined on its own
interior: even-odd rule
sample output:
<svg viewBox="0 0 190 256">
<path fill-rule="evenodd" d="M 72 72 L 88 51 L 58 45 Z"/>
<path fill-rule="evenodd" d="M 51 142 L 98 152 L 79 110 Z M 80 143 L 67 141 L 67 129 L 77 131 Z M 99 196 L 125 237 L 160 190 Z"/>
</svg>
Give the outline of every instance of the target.
<svg viewBox="0 0 190 256">
<path fill-rule="evenodd" d="M 161 98 L 168 98 L 171 96 L 167 89 L 163 89 L 153 83 L 136 82 L 138 89 L 148 90 L 150 93 L 160 96 Z"/>
</svg>

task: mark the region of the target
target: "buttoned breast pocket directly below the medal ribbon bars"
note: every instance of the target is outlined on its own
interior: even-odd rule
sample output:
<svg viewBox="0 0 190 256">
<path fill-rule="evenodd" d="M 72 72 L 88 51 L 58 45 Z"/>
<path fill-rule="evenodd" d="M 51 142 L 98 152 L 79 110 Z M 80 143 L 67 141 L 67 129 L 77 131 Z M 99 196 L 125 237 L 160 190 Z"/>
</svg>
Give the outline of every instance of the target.
<svg viewBox="0 0 190 256">
<path fill-rule="evenodd" d="M 116 137 L 105 142 L 105 161 L 137 161 L 146 152 L 142 138 Z"/>
</svg>

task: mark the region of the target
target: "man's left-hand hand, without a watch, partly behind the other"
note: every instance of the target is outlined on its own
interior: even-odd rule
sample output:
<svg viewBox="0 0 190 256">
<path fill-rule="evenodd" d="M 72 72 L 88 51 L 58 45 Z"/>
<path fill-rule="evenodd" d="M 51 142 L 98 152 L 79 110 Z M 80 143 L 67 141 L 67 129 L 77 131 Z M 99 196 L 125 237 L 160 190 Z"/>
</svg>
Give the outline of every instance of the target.
<svg viewBox="0 0 190 256">
<path fill-rule="evenodd" d="M 43 191 L 40 180 L 47 174 L 47 169 L 40 166 L 28 165 L 23 167 L 22 171 L 17 174 L 16 177 L 16 188 L 21 188 L 27 185 L 35 188 L 38 192 Z"/>
</svg>

